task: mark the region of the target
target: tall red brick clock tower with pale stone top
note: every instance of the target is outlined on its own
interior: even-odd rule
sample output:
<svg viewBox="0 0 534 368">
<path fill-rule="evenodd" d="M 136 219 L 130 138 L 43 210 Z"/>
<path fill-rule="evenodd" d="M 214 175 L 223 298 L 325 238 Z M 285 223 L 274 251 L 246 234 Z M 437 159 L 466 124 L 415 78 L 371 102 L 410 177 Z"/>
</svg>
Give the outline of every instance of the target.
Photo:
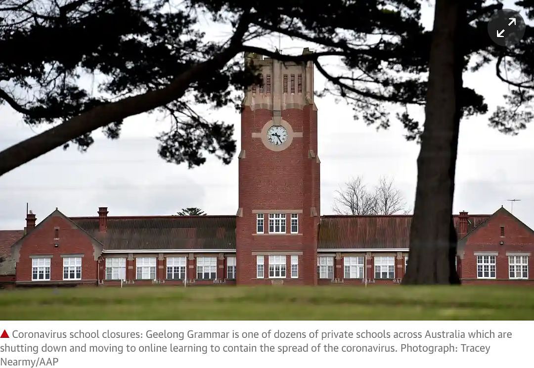
<svg viewBox="0 0 534 368">
<path fill-rule="evenodd" d="M 303 53 L 309 53 L 304 49 Z M 262 82 L 242 102 L 237 284 L 317 284 L 320 220 L 313 63 L 245 54 Z"/>
</svg>

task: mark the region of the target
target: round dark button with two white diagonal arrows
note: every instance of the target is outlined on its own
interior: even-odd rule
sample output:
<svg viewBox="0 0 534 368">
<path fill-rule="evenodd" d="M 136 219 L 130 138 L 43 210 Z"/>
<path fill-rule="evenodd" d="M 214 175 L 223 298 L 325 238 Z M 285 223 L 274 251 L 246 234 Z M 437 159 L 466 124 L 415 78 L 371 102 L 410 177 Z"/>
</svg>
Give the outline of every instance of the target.
<svg viewBox="0 0 534 368">
<path fill-rule="evenodd" d="M 499 46 L 513 46 L 525 35 L 525 21 L 515 10 L 499 10 L 488 22 L 488 34 Z"/>
</svg>

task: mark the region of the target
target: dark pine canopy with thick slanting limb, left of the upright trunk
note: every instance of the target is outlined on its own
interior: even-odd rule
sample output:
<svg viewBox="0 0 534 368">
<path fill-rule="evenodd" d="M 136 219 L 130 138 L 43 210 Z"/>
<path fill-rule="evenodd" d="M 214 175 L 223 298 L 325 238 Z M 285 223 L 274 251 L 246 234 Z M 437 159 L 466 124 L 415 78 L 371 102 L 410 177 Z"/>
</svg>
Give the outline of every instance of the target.
<svg viewBox="0 0 534 368">
<path fill-rule="evenodd" d="M 205 17 L 233 35 L 206 40 Z M 315 44 L 317 52 L 292 57 L 252 46 L 272 33 Z M 347 98 L 356 117 L 387 127 L 384 102 L 424 103 L 418 74 L 427 69 L 428 44 L 417 1 L 312 9 L 297 1 L 7 0 L 0 5 L 0 103 L 51 129 L 0 152 L 0 175 L 58 146 L 87 150 L 98 128 L 119 138 L 125 118 L 151 111 L 172 120 L 157 137 L 163 159 L 193 167 L 211 154 L 229 163 L 232 125 L 203 119 L 195 105 L 239 106 L 242 88 L 255 81 L 242 68 L 244 51 L 314 60 L 331 82 L 323 93 Z M 341 57 L 350 74 L 327 70 L 328 57 Z M 480 100 L 473 102 L 480 110 Z M 410 136 L 419 129 L 408 127 Z"/>
</svg>

